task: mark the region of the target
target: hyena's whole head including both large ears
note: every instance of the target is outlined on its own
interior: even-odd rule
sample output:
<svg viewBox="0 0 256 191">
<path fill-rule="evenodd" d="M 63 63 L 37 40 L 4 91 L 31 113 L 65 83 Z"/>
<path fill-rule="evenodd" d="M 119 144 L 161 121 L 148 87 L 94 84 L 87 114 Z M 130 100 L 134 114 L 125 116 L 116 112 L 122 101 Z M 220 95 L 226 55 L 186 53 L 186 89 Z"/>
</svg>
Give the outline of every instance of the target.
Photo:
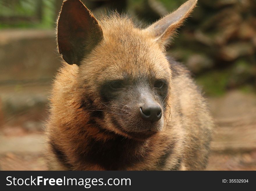
<svg viewBox="0 0 256 191">
<path fill-rule="evenodd" d="M 143 29 L 116 14 L 98 21 L 80 0 L 63 2 L 58 50 L 68 64 L 79 66 L 77 101 L 87 112 L 81 121 L 136 140 L 162 131 L 172 84 L 164 48 L 196 2 Z"/>
</svg>

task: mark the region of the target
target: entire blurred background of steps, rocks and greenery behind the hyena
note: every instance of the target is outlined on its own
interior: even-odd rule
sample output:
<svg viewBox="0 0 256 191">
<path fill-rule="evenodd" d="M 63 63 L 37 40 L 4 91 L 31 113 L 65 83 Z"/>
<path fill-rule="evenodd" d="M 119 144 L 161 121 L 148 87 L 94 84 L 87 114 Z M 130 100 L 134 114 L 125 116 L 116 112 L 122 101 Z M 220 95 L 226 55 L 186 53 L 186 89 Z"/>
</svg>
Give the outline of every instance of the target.
<svg viewBox="0 0 256 191">
<path fill-rule="evenodd" d="M 82 0 L 150 24 L 186 0 Z M 62 0 L 0 0 L 0 169 L 45 170 L 43 125 L 61 66 Z M 168 54 L 205 92 L 216 121 L 207 170 L 256 170 L 256 1 L 199 0 Z"/>
</svg>

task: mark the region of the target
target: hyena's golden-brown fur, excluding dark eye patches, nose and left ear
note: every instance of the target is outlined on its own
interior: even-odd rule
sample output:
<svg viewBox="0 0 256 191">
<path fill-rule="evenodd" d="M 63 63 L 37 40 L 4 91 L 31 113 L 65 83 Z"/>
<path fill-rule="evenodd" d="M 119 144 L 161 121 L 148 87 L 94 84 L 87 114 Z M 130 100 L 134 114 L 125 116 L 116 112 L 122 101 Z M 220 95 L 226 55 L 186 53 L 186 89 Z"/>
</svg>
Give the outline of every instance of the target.
<svg viewBox="0 0 256 191">
<path fill-rule="evenodd" d="M 167 32 L 153 32 L 156 24 L 141 30 L 120 15 L 104 17 L 99 20 L 103 40 L 84 53 L 79 66 L 63 63 L 54 80 L 50 99 L 49 169 L 205 168 L 213 128 L 211 116 L 189 72 L 172 58 L 168 60 L 162 46 L 168 40 L 163 36 L 172 34 L 195 6 L 196 1 L 188 2 L 192 4 L 182 13 L 184 16 L 175 20 L 175 26 L 169 23 Z M 161 105 L 163 115 L 154 126 L 157 133 L 144 140 L 125 133 L 140 133 L 146 128 L 138 126 L 144 122 L 127 107 L 128 101 L 123 99 L 125 104 L 121 105 L 102 98 L 101 84 L 124 76 L 129 76 L 130 81 L 141 76 L 146 76 L 148 81 L 152 78 L 168 81 L 166 98 L 163 101 L 152 98 L 159 104 L 166 104 L 166 108 Z M 139 99 L 140 96 L 127 93 L 127 100 Z M 122 128 L 117 128 L 119 124 Z"/>
</svg>

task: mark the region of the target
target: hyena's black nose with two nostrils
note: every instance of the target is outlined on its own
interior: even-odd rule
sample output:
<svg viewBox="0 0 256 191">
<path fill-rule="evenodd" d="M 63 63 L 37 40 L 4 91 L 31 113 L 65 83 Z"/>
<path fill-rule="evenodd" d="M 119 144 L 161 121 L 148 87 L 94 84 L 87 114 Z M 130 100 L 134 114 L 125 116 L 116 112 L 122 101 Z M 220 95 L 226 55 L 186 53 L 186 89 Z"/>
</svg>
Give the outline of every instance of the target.
<svg viewBox="0 0 256 191">
<path fill-rule="evenodd" d="M 140 116 L 145 121 L 158 121 L 162 117 L 162 109 L 158 104 L 140 107 Z"/>
</svg>

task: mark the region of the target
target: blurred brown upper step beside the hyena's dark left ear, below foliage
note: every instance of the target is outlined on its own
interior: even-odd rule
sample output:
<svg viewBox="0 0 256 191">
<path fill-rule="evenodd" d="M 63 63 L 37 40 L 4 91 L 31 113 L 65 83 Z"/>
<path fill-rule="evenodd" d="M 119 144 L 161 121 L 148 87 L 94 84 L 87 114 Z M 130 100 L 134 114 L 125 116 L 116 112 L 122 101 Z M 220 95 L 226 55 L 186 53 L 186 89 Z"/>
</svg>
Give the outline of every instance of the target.
<svg viewBox="0 0 256 191">
<path fill-rule="evenodd" d="M 52 79 L 61 65 L 54 30 L 0 31 L 0 85 Z"/>
</svg>

